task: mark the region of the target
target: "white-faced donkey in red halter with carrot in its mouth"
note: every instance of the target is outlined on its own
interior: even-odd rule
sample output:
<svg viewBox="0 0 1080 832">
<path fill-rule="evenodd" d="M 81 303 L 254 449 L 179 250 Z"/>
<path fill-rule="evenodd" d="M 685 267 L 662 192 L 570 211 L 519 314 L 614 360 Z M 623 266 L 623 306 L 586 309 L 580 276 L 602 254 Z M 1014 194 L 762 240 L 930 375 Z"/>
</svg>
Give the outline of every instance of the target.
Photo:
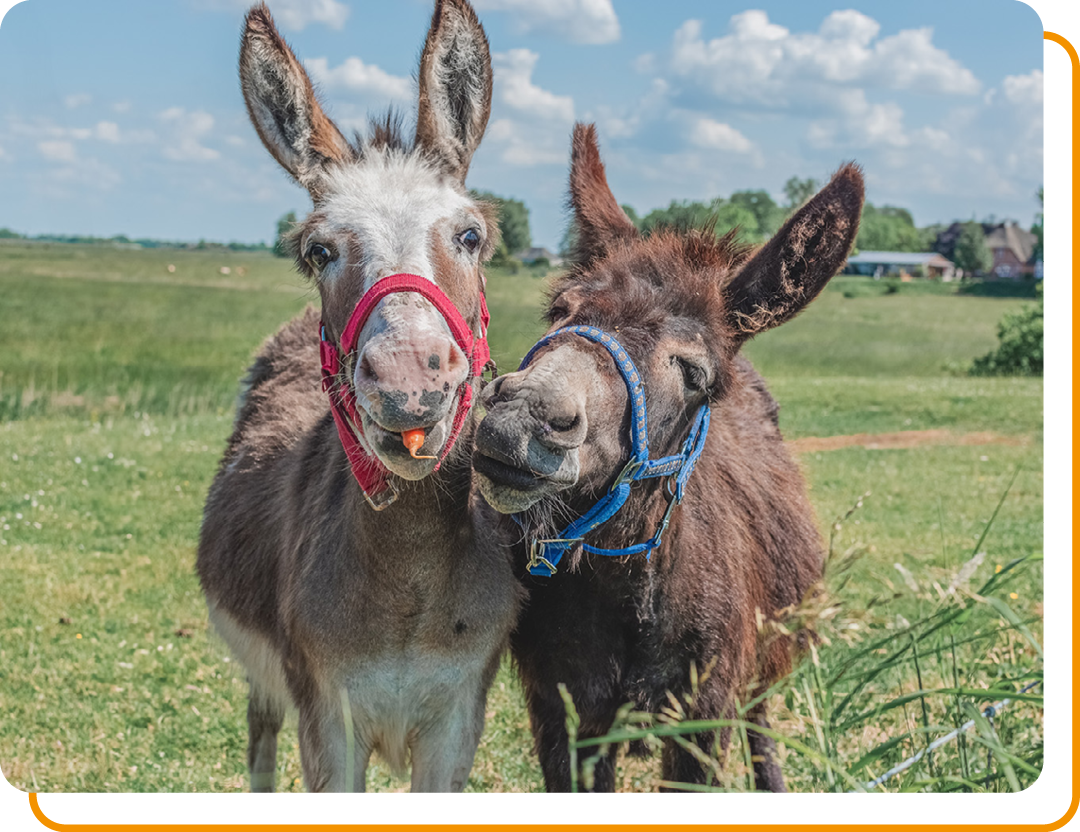
<svg viewBox="0 0 1080 832">
<path fill-rule="evenodd" d="M 293 244 L 321 296 L 326 345 L 359 325 L 362 297 L 404 273 L 436 285 L 455 320 L 482 336 L 481 265 L 497 229 L 464 178 L 491 68 L 469 3 L 435 4 L 415 142 L 394 119 L 347 142 L 265 5 L 247 14 L 240 76 L 264 144 L 314 203 Z M 328 376 L 355 395 L 355 440 L 339 438 L 321 386 L 314 310 L 271 338 L 248 373 L 198 569 L 211 620 L 248 672 L 253 791 L 273 790 L 289 706 L 311 791 L 362 791 L 373 751 L 397 770 L 410 760 L 415 791 L 460 791 L 469 776 L 521 589 L 510 550 L 473 526 L 490 509 L 470 493 L 471 413 L 446 455 L 459 402 L 480 378 L 424 286 L 382 297 Z M 427 458 L 403 443 L 417 430 Z M 382 472 L 370 505 L 347 439 L 365 470 Z"/>
</svg>

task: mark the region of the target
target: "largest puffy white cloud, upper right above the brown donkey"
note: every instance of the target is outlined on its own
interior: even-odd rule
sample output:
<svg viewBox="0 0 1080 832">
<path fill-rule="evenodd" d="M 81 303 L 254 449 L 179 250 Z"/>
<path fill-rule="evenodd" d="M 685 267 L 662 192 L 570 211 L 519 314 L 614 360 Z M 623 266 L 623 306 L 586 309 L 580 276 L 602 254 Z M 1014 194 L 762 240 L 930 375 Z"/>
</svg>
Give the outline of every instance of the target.
<svg viewBox="0 0 1080 832">
<path fill-rule="evenodd" d="M 876 40 L 879 24 L 853 10 L 833 12 L 816 32 L 792 32 L 764 11 L 733 15 L 728 33 L 705 40 L 701 21 L 675 32 L 671 69 L 719 98 L 768 108 L 841 106 L 845 89 L 877 86 L 973 95 L 972 72 L 933 45 L 932 30 Z"/>
</svg>

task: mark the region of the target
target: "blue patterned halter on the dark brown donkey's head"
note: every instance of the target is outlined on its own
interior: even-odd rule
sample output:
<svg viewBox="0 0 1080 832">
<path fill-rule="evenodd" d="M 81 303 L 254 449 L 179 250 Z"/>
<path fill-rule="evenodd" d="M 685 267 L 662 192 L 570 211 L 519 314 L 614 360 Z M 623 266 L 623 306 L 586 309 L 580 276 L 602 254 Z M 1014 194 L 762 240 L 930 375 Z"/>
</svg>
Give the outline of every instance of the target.
<svg viewBox="0 0 1080 832">
<path fill-rule="evenodd" d="M 534 538 L 529 546 L 528 568 L 532 575 L 542 575 L 545 577 L 555 574 L 555 566 L 563 554 L 579 542 L 582 549 L 593 554 L 619 556 L 644 552 L 646 560 L 648 560 L 651 551 L 660 546 L 660 538 L 667 528 L 672 511 L 675 510 L 675 506 L 683 501 L 686 482 L 690 479 L 693 466 L 705 447 L 705 435 L 708 433 L 708 405 L 703 404 L 698 410 L 698 415 L 690 428 L 690 433 L 683 443 L 683 449 L 675 456 L 649 459 L 648 419 L 645 412 L 645 386 L 642 381 L 642 375 L 637 372 L 637 367 L 634 366 L 634 362 L 631 361 L 626 350 L 615 339 L 615 336 L 609 335 L 603 330 L 597 330 L 595 326 L 566 326 L 544 336 L 536 343 L 528 354 L 522 360 L 518 370 L 524 370 L 528 366 L 529 361 L 532 360 L 538 349 L 551 341 L 552 338 L 564 333 L 572 333 L 573 335 L 580 335 L 582 338 L 595 341 L 611 353 L 611 358 L 615 359 L 616 366 L 619 367 L 619 373 L 626 383 L 626 390 L 630 393 L 630 403 L 633 408 L 630 420 L 630 439 L 633 447 L 626 467 L 616 478 L 611 489 L 595 506 L 564 528 L 558 537 L 548 539 Z M 656 534 L 644 544 L 627 546 L 624 549 L 598 549 L 595 546 L 583 542 L 586 533 L 592 532 L 602 523 L 606 523 L 622 508 L 630 496 L 631 483 L 654 477 L 672 477 L 673 480 L 667 482 L 667 493 L 670 495 L 667 510 L 664 512 L 664 516 L 660 521 Z M 511 518 L 517 525 L 522 525 L 516 514 L 511 514 Z"/>
</svg>

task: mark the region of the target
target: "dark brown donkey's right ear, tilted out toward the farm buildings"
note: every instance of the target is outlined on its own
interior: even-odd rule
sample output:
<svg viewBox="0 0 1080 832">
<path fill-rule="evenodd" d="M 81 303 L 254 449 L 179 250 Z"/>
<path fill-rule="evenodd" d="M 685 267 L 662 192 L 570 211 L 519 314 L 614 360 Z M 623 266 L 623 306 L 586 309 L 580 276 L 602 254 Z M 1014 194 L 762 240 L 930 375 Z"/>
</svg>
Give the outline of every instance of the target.
<svg viewBox="0 0 1080 832">
<path fill-rule="evenodd" d="M 783 323 L 818 296 L 843 266 L 862 210 L 862 172 L 846 164 L 725 286 L 737 340 Z"/>
</svg>

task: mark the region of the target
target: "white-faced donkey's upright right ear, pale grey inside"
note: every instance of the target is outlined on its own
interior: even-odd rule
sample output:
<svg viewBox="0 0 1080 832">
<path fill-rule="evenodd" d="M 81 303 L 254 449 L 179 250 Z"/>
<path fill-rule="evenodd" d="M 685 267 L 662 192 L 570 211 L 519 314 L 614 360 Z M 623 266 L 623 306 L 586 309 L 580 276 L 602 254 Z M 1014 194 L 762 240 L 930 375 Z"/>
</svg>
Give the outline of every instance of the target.
<svg viewBox="0 0 1080 832">
<path fill-rule="evenodd" d="M 416 143 L 462 185 L 491 115 L 491 55 L 468 0 L 436 0 L 420 55 Z"/>
</svg>

